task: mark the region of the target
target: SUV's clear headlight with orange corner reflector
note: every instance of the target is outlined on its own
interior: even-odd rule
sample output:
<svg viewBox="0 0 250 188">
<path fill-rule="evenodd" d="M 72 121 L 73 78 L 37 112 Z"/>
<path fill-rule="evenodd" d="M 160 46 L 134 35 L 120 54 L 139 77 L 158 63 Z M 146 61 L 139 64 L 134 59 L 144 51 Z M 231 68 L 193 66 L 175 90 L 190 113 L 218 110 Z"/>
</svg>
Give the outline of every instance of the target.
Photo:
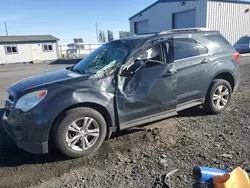
<svg viewBox="0 0 250 188">
<path fill-rule="evenodd" d="M 28 93 L 17 101 L 15 108 L 27 112 L 38 105 L 46 95 L 46 90 Z"/>
</svg>

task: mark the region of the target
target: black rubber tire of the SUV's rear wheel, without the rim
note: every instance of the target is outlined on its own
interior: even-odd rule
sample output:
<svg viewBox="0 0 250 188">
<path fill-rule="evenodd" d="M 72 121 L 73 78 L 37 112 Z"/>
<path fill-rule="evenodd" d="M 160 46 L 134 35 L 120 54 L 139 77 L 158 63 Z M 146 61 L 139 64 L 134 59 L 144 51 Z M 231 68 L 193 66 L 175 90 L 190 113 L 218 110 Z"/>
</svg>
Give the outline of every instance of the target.
<svg viewBox="0 0 250 188">
<path fill-rule="evenodd" d="M 215 102 L 213 100 L 216 89 L 219 86 L 223 86 L 223 88 L 226 87 L 228 89 L 228 92 L 229 92 L 229 96 L 228 96 L 228 100 L 227 100 L 226 105 L 223 108 L 220 108 L 220 109 L 218 109 L 216 107 Z M 231 96 L 232 96 L 232 87 L 229 84 L 229 82 L 226 81 L 226 80 L 223 80 L 223 79 L 215 79 L 215 80 L 213 80 L 213 82 L 211 83 L 211 85 L 210 85 L 210 87 L 208 89 L 206 99 L 205 99 L 205 103 L 204 103 L 204 108 L 209 113 L 219 114 L 219 113 L 223 112 L 227 108 L 227 106 L 230 103 Z"/>
</svg>

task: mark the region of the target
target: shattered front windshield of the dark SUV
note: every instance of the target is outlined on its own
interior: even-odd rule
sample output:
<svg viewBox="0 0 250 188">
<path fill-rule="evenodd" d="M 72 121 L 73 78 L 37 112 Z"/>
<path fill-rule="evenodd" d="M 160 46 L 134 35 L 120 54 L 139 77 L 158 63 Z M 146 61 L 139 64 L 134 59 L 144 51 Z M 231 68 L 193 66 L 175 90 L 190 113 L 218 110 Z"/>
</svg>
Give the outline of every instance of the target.
<svg viewBox="0 0 250 188">
<path fill-rule="evenodd" d="M 122 63 L 128 51 L 123 41 L 107 43 L 81 60 L 72 68 L 72 71 L 85 74 L 103 74 L 117 63 Z"/>
</svg>

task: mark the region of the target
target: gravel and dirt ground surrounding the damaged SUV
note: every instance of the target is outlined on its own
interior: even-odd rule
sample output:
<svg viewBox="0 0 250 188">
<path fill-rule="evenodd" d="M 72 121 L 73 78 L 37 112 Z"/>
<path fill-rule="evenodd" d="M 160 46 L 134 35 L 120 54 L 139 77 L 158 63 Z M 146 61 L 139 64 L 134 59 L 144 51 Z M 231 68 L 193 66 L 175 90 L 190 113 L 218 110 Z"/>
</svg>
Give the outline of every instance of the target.
<svg viewBox="0 0 250 188">
<path fill-rule="evenodd" d="M 248 63 L 249 62 L 249 63 Z M 65 66 L 65 65 L 62 65 Z M 0 66 L 0 103 L 15 81 L 58 66 Z M 61 67 L 61 66 L 59 66 Z M 95 155 L 67 160 L 58 153 L 18 149 L 0 126 L 0 187 L 192 187 L 195 165 L 250 167 L 250 59 L 230 107 L 220 115 L 193 108 L 177 117 L 116 134 Z M 1 105 L 1 104 L 0 104 Z M 3 113 L 4 109 L 1 109 Z"/>
</svg>

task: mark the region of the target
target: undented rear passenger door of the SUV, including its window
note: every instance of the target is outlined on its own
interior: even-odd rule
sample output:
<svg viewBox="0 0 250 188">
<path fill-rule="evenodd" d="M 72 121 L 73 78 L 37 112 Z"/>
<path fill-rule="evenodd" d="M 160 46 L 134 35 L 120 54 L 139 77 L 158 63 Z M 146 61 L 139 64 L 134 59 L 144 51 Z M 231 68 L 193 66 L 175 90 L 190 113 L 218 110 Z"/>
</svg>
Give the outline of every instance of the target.
<svg viewBox="0 0 250 188">
<path fill-rule="evenodd" d="M 174 63 L 177 70 L 177 107 L 193 106 L 204 97 L 203 80 L 210 62 L 208 49 L 193 38 L 174 38 Z"/>
</svg>

